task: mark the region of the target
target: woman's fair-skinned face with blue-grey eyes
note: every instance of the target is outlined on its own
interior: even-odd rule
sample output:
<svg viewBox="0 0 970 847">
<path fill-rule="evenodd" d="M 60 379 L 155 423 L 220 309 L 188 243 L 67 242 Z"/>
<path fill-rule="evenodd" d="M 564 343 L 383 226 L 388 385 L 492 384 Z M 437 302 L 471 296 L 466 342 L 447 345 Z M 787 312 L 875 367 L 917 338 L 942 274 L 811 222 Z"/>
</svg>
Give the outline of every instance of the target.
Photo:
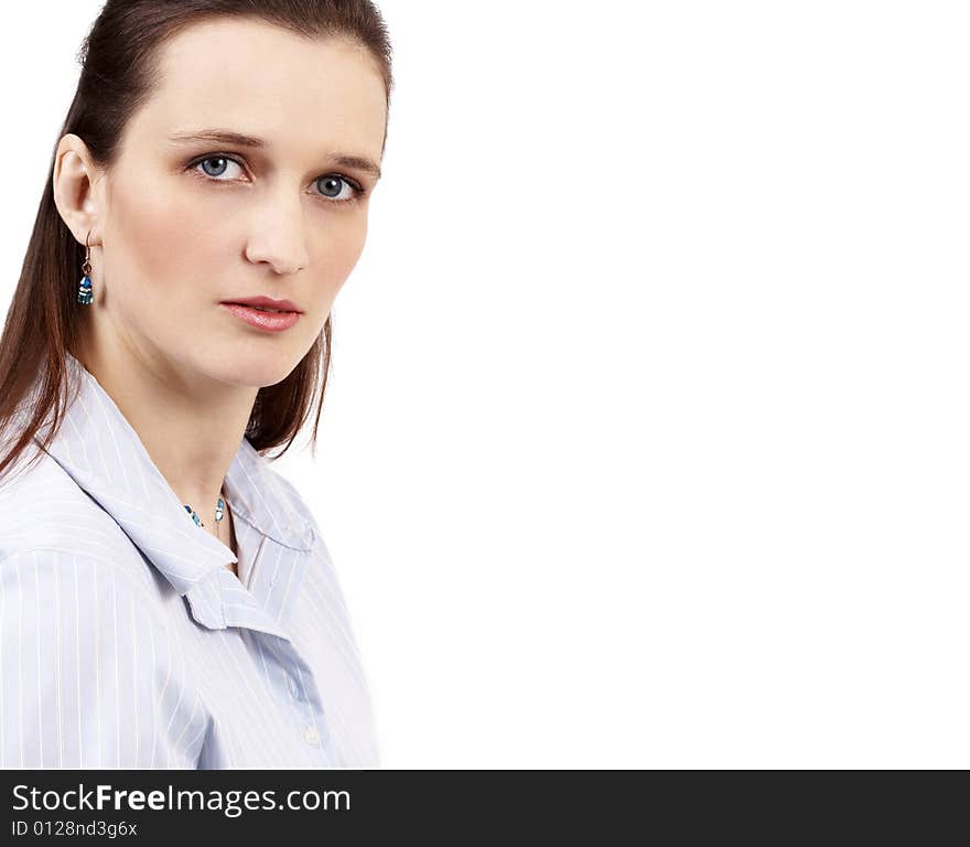
<svg viewBox="0 0 970 847">
<path fill-rule="evenodd" d="M 283 379 L 364 248 L 378 176 L 366 161 L 380 164 L 386 120 L 378 65 L 359 46 L 252 21 L 174 37 L 99 195 L 98 332 L 185 376 Z M 207 130 L 265 146 L 180 138 Z M 267 332 L 222 304 L 260 294 L 302 314 Z"/>
</svg>

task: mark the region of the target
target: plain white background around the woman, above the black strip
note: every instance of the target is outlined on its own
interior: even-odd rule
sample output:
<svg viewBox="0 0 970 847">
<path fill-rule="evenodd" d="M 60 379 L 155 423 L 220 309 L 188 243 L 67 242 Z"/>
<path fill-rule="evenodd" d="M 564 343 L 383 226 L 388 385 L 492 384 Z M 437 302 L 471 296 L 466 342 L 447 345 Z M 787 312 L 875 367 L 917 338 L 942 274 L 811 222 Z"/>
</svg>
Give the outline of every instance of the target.
<svg viewBox="0 0 970 847">
<path fill-rule="evenodd" d="M 382 763 L 968 766 L 967 6 L 379 6 L 386 175 L 277 467 Z M 0 54 L 4 307 L 99 7 Z"/>
</svg>

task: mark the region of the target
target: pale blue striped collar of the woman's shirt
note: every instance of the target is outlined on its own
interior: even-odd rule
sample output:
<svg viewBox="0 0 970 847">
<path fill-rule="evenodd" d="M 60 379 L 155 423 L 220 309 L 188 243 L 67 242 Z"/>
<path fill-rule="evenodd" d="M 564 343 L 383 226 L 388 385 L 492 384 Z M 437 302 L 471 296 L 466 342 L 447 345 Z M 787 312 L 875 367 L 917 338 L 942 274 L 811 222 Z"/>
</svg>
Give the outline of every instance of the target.
<svg viewBox="0 0 970 847">
<path fill-rule="evenodd" d="M 110 395 L 69 352 L 66 365 L 69 405 L 47 453 L 117 521 L 180 594 L 213 572 L 224 582 L 220 570 L 235 579 L 226 565 L 238 558 L 195 525 Z M 34 435 L 37 443 L 47 426 L 50 417 Z M 273 543 L 308 553 L 314 539 L 312 518 L 267 464 L 244 437 L 225 478 L 233 515 Z M 216 614 L 207 623 L 224 626 L 225 615 Z"/>
</svg>

